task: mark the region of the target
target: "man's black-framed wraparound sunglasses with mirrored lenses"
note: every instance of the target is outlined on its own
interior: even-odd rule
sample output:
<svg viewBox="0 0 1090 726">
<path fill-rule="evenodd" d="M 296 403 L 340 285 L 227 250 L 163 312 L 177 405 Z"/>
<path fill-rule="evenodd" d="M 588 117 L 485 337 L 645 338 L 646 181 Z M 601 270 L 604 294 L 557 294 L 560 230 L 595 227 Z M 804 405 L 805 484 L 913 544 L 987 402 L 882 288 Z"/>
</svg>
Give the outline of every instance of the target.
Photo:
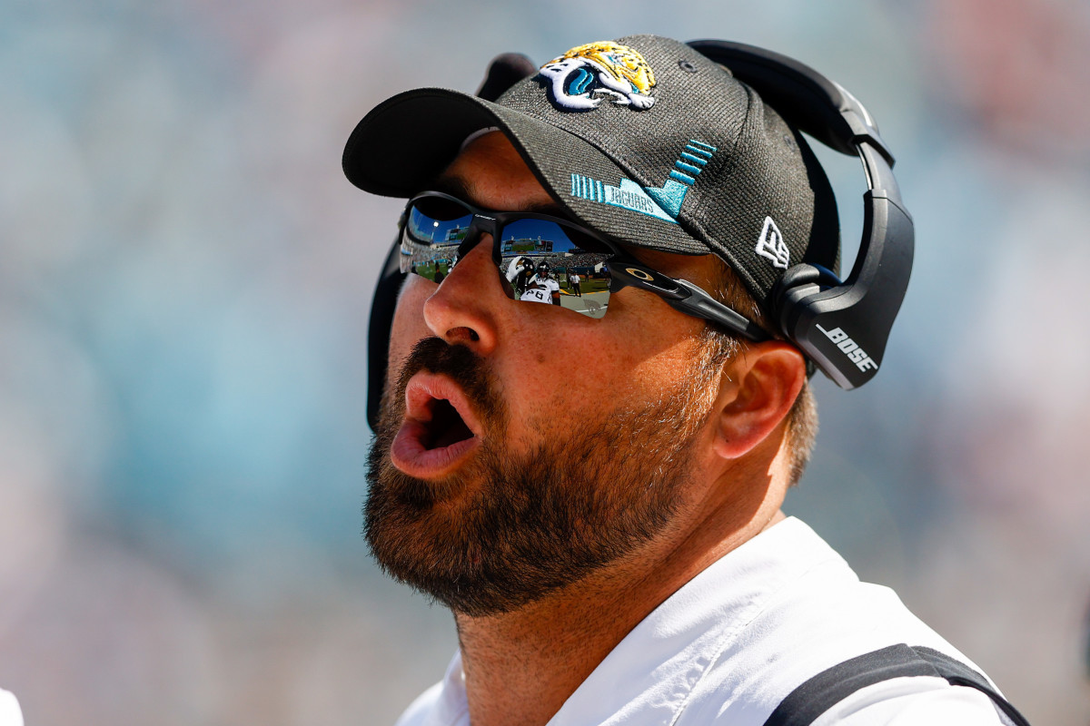
<svg viewBox="0 0 1090 726">
<path fill-rule="evenodd" d="M 751 341 L 771 336 L 687 280 L 665 275 L 613 242 L 569 220 L 536 212 L 477 209 L 441 192 L 409 200 L 401 219 L 401 272 L 440 283 L 483 234 L 507 296 L 603 318 L 625 287 L 658 295 L 670 307 Z"/>
</svg>

